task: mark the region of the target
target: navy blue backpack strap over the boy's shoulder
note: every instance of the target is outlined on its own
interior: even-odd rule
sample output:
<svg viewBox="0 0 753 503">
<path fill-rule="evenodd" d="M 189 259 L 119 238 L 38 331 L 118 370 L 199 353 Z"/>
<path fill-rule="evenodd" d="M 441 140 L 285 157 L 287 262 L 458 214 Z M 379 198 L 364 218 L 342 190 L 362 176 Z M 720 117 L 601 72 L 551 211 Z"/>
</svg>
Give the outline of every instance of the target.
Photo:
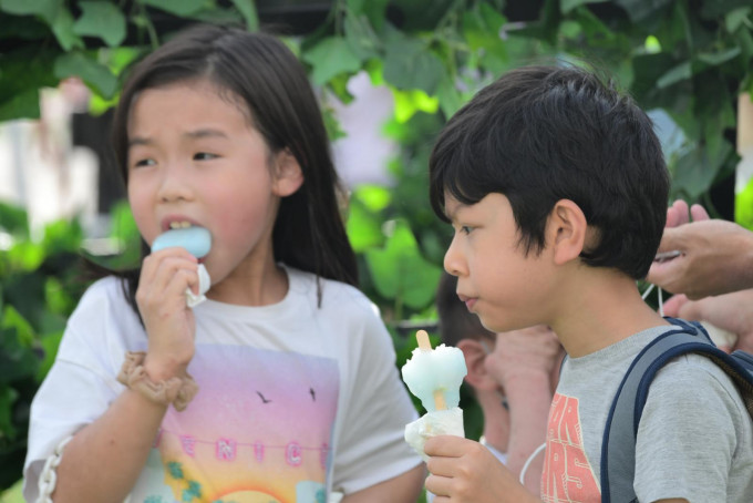
<svg viewBox="0 0 753 503">
<path fill-rule="evenodd" d="M 630 365 L 612 401 L 601 442 L 601 501 L 637 501 L 632 483 L 636 474 L 636 437 L 649 386 L 669 360 L 694 352 L 704 355 L 721 367 L 736 384 L 753 419 L 753 355 L 729 355 L 711 341 L 705 329 L 694 321 L 666 318 L 678 328 L 648 345 Z"/>
</svg>

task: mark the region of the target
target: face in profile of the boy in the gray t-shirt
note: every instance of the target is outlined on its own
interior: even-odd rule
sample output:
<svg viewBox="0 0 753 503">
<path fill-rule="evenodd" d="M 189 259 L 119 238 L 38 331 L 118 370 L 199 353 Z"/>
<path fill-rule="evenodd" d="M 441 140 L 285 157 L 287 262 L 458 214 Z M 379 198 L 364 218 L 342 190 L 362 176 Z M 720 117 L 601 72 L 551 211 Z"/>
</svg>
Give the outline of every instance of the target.
<svg viewBox="0 0 753 503">
<path fill-rule="evenodd" d="M 445 212 L 455 234 L 444 268 L 457 276 L 457 295 L 468 310 L 496 332 L 548 324 L 549 249 L 525 255 L 507 197 L 491 193 L 465 205 L 445 193 Z"/>
</svg>

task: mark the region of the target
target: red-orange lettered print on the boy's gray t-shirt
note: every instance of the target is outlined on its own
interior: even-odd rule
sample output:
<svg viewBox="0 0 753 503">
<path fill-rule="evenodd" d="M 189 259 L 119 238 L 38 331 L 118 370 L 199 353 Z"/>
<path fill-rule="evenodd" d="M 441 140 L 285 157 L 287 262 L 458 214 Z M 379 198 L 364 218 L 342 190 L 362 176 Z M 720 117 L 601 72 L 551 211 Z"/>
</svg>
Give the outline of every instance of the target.
<svg viewBox="0 0 753 503">
<path fill-rule="evenodd" d="M 578 399 L 555 393 L 549 409 L 541 474 L 541 500 L 545 503 L 601 501 L 581 431 Z"/>
</svg>

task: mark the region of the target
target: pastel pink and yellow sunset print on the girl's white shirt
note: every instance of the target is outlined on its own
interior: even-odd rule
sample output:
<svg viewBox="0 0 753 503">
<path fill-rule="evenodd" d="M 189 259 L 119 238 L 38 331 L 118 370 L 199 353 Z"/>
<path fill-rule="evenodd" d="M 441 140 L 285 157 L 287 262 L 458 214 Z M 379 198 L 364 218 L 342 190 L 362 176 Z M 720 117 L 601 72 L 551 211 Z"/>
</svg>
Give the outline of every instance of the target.
<svg viewBox="0 0 753 503">
<path fill-rule="evenodd" d="M 169 409 L 131 503 L 324 503 L 337 361 L 203 346 L 199 392 Z"/>
</svg>

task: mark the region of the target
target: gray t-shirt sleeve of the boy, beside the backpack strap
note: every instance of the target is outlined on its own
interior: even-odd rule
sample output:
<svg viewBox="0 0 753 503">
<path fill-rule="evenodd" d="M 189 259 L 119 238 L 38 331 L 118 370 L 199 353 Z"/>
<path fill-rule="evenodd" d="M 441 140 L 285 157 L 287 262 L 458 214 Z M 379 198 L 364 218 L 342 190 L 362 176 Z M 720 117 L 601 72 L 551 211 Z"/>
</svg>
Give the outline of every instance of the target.
<svg viewBox="0 0 753 503">
<path fill-rule="evenodd" d="M 651 384 L 636 444 L 638 500 L 728 499 L 728 479 L 743 420 L 736 389 L 700 356 L 669 363 Z"/>
</svg>

